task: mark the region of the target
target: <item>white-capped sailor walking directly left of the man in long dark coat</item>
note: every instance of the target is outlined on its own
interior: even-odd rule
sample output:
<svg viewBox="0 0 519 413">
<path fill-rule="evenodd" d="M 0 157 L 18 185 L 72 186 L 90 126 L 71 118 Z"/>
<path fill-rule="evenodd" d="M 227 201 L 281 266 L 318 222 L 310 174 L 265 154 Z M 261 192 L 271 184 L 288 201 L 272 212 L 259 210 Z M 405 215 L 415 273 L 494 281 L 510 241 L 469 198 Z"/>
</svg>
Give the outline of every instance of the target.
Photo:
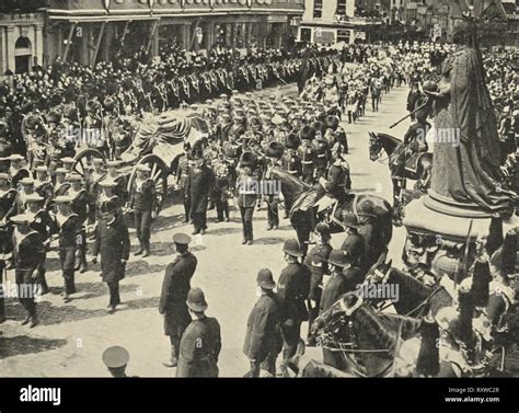
<svg viewBox="0 0 519 413">
<path fill-rule="evenodd" d="M 79 216 L 72 213 L 72 199 L 69 196 L 57 196 L 54 202 L 58 206 L 56 223 L 59 228 L 59 261 L 65 282 L 64 301 L 68 302 L 70 300 L 69 296 L 76 292 L 76 251 L 78 249 L 78 234 L 81 230 L 81 223 Z"/>
</svg>

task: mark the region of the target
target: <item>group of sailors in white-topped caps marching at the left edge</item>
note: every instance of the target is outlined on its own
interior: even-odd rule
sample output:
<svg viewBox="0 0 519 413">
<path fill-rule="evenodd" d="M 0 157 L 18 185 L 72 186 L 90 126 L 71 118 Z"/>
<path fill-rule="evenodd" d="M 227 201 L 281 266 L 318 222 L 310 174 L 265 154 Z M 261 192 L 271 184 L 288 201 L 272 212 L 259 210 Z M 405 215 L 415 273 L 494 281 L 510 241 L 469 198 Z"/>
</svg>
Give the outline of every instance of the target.
<svg viewBox="0 0 519 413">
<path fill-rule="evenodd" d="M 24 167 L 24 158 L 12 154 L 4 159 L 8 171 L 0 173 L 0 260 L 1 276 L 12 267 L 24 268 L 31 261 L 34 274 L 16 276 L 16 283 L 33 280 L 38 292 L 48 292 L 45 278 L 45 259 L 50 243 L 58 241 L 58 254 L 64 277 L 62 299 L 70 300 L 76 289 L 76 272 L 88 268 L 89 233 L 93 236 L 93 256 L 101 254 L 103 280 L 108 284 L 111 312 L 119 303 L 118 282 L 124 278 L 124 264 L 128 260 L 129 238 L 123 222 L 125 205 L 132 210 L 140 249 L 136 255 L 150 253 L 150 227 L 155 217 L 154 182 L 147 165 L 137 168 L 136 180 L 127 191 L 127 177 L 118 174 L 119 161 L 93 160 L 94 170 L 82 176 L 72 170 L 74 160 L 64 158 L 53 173 L 38 165 L 34 174 Z M 106 163 L 107 171 L 104 169 Z M 35 175 L 35 176 L 34 176 Z M 127 203 L 125 204 L 125 200 Z M 109 218 L 107 218 L 109 216 Z M 94 228 L 95 227 L 95 228 Z M 37 237 L 36 237 L 37 236 Z M 27 244 L 28 243 L 28 244 Z M 39 251 L 25 256 L 21 245 Z M 119 248 L 117 248 L 119 245 Z M 16 273 L 18 274 L 18 273 Z M 27 274 L 34 275 L 33 278 Z M 21 299 L 22 301 L 22 299 Z M 31 326 L 37 324 L 34 300 L 27 305 Z M 0 320 L 4 319 L 3 299 L 0 301 Z"/>
</svg>

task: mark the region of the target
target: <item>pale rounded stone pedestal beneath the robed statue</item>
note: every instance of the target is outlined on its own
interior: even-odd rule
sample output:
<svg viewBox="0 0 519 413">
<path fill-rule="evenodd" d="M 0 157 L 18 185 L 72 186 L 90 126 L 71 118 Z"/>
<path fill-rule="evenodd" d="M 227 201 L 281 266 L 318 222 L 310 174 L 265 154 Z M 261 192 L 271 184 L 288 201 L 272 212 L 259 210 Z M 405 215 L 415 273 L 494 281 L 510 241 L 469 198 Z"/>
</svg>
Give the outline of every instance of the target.
<svg viewBox="0 0 519 413">
<path fill-rule="evenodd" d="M 428 195 L 411 202 L 405 207 L 403 225 L 410 233 L 440 236 L 452 242 L 465 242 L 471 220 L 470 238 L 474 241 L 477 236 L 488 233 L 491 219 L 492 216 L 478 209 L 477 206 L 442 199 L 429 191 Z M 518 225 L 517 217 L 503 222 L 504 232 L 506 233 L 507 228 Z"/>
</svg>

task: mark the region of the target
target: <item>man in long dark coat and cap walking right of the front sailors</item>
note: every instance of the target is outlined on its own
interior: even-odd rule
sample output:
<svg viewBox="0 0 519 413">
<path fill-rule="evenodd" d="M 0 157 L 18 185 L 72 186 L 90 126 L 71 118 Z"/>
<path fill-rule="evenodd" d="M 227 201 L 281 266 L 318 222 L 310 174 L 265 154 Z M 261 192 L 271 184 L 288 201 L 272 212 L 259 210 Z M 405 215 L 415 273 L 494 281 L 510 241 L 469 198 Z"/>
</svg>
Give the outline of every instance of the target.
<svg viewBox="0 0 519 413">
<path fill-rule="evenodd" d="M 118 205 L 108 202 L 104 205 L 104 217 L 95 229 L 95 243 L 92 251 L 93 263 L 101 254 L 101 276 L 108 285 L 108 313 L 113 314 L 120 303 L 119 282 L 125 277 L 126 262 L 129 257 L 130 240 L 128 228 L 118 215 Z"/>
</svg>

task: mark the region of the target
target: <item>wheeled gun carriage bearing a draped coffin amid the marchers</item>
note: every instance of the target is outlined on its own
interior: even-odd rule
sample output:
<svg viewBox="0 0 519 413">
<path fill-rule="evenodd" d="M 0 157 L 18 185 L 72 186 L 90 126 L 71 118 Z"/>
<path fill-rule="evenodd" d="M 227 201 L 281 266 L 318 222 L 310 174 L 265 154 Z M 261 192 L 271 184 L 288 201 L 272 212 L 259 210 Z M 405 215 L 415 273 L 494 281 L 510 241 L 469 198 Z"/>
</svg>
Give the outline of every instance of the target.
<svg viewBox="0 0 519 413">
<path fill-rule="evenodd" d="M 148 165 L 155 183 L 155 213 L 160 213 L 168 192 L 168 177 L 176 172 L 184 145 L 192 150 L 204 147 L 209 136 L 209 126 L 197 113 L 177 111 L 145 117 L 134 135 L 131 146 L 120 154 L 119 179 L 124 179 L 129 194 L 139 165 Z M 74 157 L 73 171 L 89 180 L 95 159 L 107 160 L 103 151 L 84 148 Z M 127 199 L 124 199 L 125 202 Z"/>
</svg>

